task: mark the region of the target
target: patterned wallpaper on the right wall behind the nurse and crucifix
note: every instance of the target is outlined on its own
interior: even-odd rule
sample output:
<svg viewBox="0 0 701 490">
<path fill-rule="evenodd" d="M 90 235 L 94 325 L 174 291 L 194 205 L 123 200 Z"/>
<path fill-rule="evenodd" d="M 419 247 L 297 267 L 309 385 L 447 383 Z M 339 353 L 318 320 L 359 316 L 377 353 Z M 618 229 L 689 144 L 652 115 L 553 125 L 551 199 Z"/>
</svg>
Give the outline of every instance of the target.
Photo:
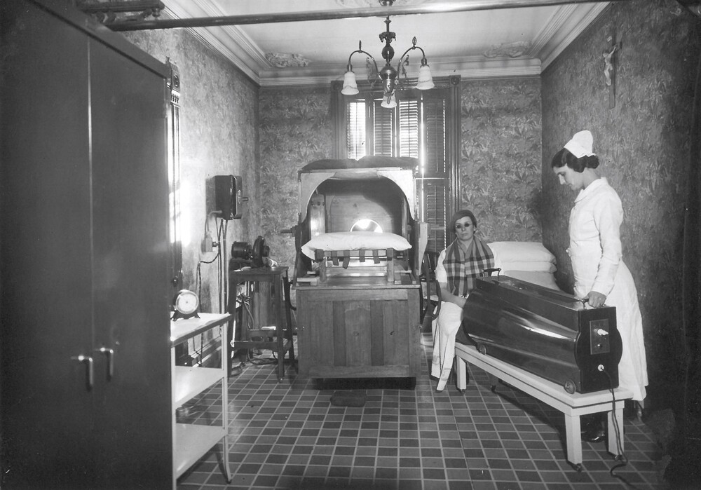
<svg viewBox="0 0 701 490">
<path fill-rule="evenodd" d="M 613 33 L 622 44 L 610 107 L 603 53 Z M 699 52 L 699 22 L 675 1 L 616 2 L 542 76 L 544 243 L 570 289 L 565 249 L 576 196 L 559 186 L 550 159 L 574 132 L 590 129 L 601 174 L 622 200 L 623 259 L 643 315 L 648 398 L 662 407 L 675 399 L 665 392 L 683 384 L 681 238 Z"/>
</svg>

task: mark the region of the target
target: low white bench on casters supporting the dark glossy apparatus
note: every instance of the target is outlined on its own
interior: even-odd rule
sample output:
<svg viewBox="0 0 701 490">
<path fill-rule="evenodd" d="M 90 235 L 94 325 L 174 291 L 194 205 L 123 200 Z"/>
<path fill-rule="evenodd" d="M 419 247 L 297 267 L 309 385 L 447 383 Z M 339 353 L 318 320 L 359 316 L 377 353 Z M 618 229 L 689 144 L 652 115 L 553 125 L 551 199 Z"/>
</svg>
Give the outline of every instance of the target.
<svg viewBox="0 0 701 490">
<path fill-rule="evenodd" d="M 557 383 L 547 381 L 524 369 L 510 365 L 507 362 L 481 354 L 474 346 L 456 343 L 455 356 L 457 360 L 458 389 L 467 388 L 467 362 L 484 369 L 492 378 L 492 389 L 496 380 L 501 379 L 524 393 L 537 398 L 554 409 L 562 411 L 565 416 L 567 461 L 576 470 L 582 469 L 582 433 L 580 416 L 597 414 L 605 411 L 608 420 L 608 452 L 618 455 L 623 451 L 623 404 L 632 398 L 633 393 L 625 388 L 615 388 L 615 411 L 611 391 L 601 390 L 594 393 L 567 393 Z M 620 431 L 615 430 L 615 422 Z M 620 440 L 619 440 L 620 432 Z"/>
</svg>

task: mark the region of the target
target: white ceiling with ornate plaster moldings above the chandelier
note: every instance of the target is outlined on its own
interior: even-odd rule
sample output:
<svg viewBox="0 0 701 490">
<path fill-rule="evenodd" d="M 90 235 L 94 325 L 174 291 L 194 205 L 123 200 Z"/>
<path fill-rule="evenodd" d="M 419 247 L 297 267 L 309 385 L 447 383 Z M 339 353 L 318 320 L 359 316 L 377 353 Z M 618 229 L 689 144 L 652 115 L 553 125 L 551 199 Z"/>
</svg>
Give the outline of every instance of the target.
<svg viewBox="0 0 701 490">
<path fill-rule="evenodd" d="M 377 8 L 397 11 L 413 6 L 460 8 L 463 0 L 396 0 L 383 8 L 378 0 L 163 0 L 166 16 L 174 18 L 231 17 L 330 13 Z M 474 2 L 473 2 L 474 3 Z M 487 4 L 488 2 L 482 2 Z M 397 34 L 393 65 L 411 47 L 426 51 L 434 76 L 460 74 L 463 79 L 538 75 L 589 25 L 609 2 L 553 4 L 520 0 L 505 8 L 472 9 L 449 13 L 412 13 L 390 17 Z M 546 6 L 532 6 L 534 4 Z M 435 8 L 434 8 L 435 7 Z M 268 19 L 270 17 L 268 16 Z M 237 22 L 238 23 L 238 22 Z M 348 55 L 358 48 L 383 64 L 384 17 L 305 20 L 266 24 L 194 27 L 193 31 L 264 87 L 329 83 L 343 79 Z M 602 41 L 605 41 L 602 39 Z M 409 54 L 407 75 L 415 77 L 421 56 Z M 267 55 L 267 56 L 266 56 Z M 273 62 L 278 66 L 275 66 Z M 354 70 L 365 74 L 365 55 L 353 56 Z M 280 67 L 281 66 L 281 67 Z"/>
</svg>

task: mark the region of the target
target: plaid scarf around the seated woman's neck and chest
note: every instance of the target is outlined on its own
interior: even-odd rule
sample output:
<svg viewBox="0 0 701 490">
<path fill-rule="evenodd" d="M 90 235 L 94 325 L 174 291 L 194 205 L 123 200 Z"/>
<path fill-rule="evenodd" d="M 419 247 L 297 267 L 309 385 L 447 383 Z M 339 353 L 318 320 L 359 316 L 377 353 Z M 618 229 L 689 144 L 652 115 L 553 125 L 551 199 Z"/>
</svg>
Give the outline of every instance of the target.
<svg viewBox="0 0 701 490">
<path fill-rule="evenodd" d="M 476 236 L 470 250 L 457 238 L 445 249 L 443 266 L 448 275 L 448 290 L 456 296 L 467 297 L 475 289 L 475 279 L 486 268 L 494 267 L 494 254 L 489 245 Z"/>
</svg>

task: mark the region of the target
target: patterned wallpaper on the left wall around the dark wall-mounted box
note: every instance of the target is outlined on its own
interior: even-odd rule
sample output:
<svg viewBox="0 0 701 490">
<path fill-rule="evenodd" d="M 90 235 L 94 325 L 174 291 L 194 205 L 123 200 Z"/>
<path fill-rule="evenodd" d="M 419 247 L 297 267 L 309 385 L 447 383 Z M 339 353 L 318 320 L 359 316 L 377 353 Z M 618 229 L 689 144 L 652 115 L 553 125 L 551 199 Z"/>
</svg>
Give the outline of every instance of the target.
<svg viewBox="0 0 701 490">
<path fill-rule="evenodd" d="M 205 226 L 217 241 L 218 224 L 209 216 L 215 210 L 215 175 L 241 175 L 242 219 L 227 223 L 226 238 L 253 243 L 259 229 L 257 183 L 258 88 L 246 76 L 184 29 L 139 31 L 125 37 L 142 50 L 165 62 L 177 64 L 182 80 L 180 162 L 182 179 L 182 226 L 184 287 L 196 289 L 201 275 L 200 311 L 221 311 L 219 267 L 215 252 L 201 252 Z M 206 223 L 205 223 L 206 221 Z M 224 240 L 225 238 L 225 240 Z M 226 250 L 229 257 L 230 250 Z M 224 264 L 226 271 L 226 264 Z M 226 278 L 224 273 L 223 278 Z M 226 301 L 222 301 L 225 307 Z"/>
</svg>

